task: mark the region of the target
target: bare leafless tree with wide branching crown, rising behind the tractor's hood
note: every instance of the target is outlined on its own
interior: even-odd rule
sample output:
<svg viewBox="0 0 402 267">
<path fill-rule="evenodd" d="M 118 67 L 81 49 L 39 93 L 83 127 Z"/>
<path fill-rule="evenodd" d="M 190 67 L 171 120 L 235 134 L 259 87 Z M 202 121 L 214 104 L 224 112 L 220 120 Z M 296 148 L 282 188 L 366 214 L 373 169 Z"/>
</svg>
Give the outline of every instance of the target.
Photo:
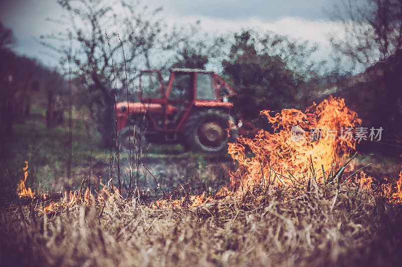
<svg viewBox="0 0 402 267">
<path fill-rule="evenodd" d="M 123 88 L 123 84 L 132 85 L 136 68 L 168 66 L 169 60 L 163 60 L 161 53 L 184 47 L 197 28 L 168 27 L 159 16 L 161 9 L 149 10 L 138 1 L 58 0 L 57 3 L 64 9 L 65 16 L 49 20 L 60 24 L 62 30 L 41 36 L 40 42 L 57 51 L 61 64 L 66 65 L 68 40 L 72 39 L 72 75 L 86 87 L 88 95 L 85 97 L 88 102 L 96 103 L 97 114 L 103 114 L 98 116 L 98 125 L 103 125 L 98 129 L 105 145 L 109 144 L 108 124 L 116 93 L 112 90 Z M 125 47 L 126 64 L 121 46 Z M 125 81 L 125 68 L 128 81 Z"/>
</svg>

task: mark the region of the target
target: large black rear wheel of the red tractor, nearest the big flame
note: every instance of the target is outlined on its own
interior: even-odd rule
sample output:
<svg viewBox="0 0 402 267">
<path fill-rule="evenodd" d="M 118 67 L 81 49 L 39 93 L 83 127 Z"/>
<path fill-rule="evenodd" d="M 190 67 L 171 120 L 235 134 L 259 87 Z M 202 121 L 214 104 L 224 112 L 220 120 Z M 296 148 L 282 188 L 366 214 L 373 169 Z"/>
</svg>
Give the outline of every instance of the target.
<svg viewBox="0 0 402 267">
<path fill-rule="evenodd" d="M 184 132 L 186 145 L 194 151 L 227 152 L 228 143 L 236 142 L 234 125 L 234 119 L 222 110 L 197 112 L 190 117 Z"/>
</svg>

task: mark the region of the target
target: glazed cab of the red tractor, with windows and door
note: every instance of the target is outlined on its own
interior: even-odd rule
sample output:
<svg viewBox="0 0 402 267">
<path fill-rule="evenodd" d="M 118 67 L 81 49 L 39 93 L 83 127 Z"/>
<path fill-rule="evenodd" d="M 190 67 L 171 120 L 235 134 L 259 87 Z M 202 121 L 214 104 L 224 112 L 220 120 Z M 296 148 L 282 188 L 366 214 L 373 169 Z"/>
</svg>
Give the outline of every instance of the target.
<svg viewBox="0 0 402 267">
<path fill-rule="evenodd" d="M 167 83 L 159 70 L 143 70 L 139 89 L 140 102 L 150 108 L 154 126 L 163 131 L 182 130 L 183 120 L 195 107 L 230 109 L 228 97 L 235 94 L 215 72 L 202 69 L 171 69 Z"/>
</svg>

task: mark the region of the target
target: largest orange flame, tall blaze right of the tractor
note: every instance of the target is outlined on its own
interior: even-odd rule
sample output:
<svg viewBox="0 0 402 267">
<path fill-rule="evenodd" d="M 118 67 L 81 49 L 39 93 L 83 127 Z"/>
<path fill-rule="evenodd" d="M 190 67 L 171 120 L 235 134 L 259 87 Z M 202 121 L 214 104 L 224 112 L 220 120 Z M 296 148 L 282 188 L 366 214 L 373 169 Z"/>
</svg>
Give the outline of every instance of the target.
<svg viewBox="0 0 402 267">
<path fill-rule="evenodd" d="M 237 144 L 229 145 L 229 154 L 243 169 L 241 184 L 245 189 L 260 183 L 263 177 L 288 186 L 304 181 L 313 171 L 321 172 L 317 182 L 322 183 L 322 168 L 312 170 L 312 165 L 323 165 L 325 172 L 338 167 L 342 160 L 339 155 L 348 155 L 356 145 L 353 138 L 340 136 L 342 130 L 346 132 L 361 123 L 344 99 L 332 96 L 319 105 L 314 103 L 305 113 L 283 109 L 273 116 L 269 110 L 261 114 L 272 123 L 273 133 L 260 130 L 254 139 L 240 137 Z M 232 181 L 231 186 L 236 182 Z"/>
</svg>

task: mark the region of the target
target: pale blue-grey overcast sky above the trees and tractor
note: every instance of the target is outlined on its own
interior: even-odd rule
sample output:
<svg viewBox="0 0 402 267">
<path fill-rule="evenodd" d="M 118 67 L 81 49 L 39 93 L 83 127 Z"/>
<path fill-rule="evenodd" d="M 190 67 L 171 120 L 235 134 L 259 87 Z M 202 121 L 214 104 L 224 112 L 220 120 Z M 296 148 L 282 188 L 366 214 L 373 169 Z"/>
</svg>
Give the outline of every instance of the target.
<svg viewBox="0 0 402 267">
<path fill-rule="evenodd" d="M 55 55 L 35 41 L 42 34 L 57 30 L 46 18 L 59 18 L 61 8 L 55 0 L 0 0 L 0 20 L 11 28 L 17 38 L 16 51 L 36 57 L 45 64 L 56 64 Z M 254 28 L 271 30 L 318 42 L 321 55 L 329 50 L 328 34 L 340 27 L 331 22 L 324 10 L 331 10 L 336 0 L 148 0 L 150 8 L 163 7 L 167 22 L 200 20 L 207 32 L 238 31 Z M 50 53 L 50 55 L 49 55 Z M 53 54 L 53 56 L 52 56 Z"/>
</svg>

